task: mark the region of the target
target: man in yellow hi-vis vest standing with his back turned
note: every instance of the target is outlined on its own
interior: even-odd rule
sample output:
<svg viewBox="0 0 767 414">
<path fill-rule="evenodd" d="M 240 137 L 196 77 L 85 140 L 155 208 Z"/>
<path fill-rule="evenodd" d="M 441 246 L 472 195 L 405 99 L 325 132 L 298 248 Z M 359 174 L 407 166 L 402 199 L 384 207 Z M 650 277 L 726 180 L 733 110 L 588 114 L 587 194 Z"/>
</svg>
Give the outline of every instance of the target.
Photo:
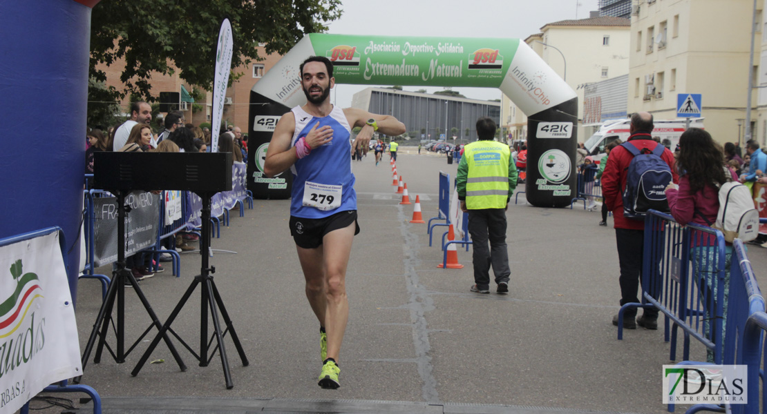
<svg viewBox="0 0 767 414">
<path fill-rule="evenodd" d="M 469 213 L 469 234 L 474 249 L 471 291 L 490 293 L 490 265 L 496 292 L 509 292 L 509 252 L 506 248 L 506 208 L 517 186 L 517 169 L 509 145 L 493 141 L 495 122 L 477 120 L 479 141 L 464 147 L 458 165 L 456 189 L 461 210 Z M 488 241 L 490 247 L 488 248 Z"/>
</svg>

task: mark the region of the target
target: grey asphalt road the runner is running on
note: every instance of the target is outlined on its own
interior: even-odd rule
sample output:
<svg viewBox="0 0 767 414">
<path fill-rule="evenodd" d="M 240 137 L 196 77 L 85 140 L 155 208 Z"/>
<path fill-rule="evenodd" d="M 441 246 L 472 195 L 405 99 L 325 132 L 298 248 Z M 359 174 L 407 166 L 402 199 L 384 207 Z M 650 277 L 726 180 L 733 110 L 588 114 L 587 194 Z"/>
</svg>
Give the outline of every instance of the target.
<svg viewBox="0 0 767 414">
<path fill-rule="evenodd" d="M 215 249 L 236 252 L 211 259 L 249 360 L 243 367 L 227 335 L 234 388 L 225 388 L 218 354 L 199 367 L 175 338 L 186 372 L 160 344 L 150 356 L 155 363 L 132 377 L 156 334 L 151 330 L 125 363 L 108 354 L 87 362 L 82 382 L 104 398 L 104 412 L 665 412 L 661 366 L 669 363 L 669 344 L 662 330 L 641 328 L 617 341 L 611 324 L 620 295 L 617 251 L 614 230 L 597 226 L 599 213 L 582 204 L 531 207 L 524 195 L 519 204 L 512 201 L 510 294 L 497 295 L 492 286 L 490 295 L 477 295 L 469 292 L 471 251 L 458 250 L 463 269 L 436 268 L 442 253 L 429 246 L 425 224 L 408 223 L 413 206 L 399 204 L 385 160 L 374 165 L 371 152 L 354 162 L 361 233 L 347 270 L 350 318 L 339 390 L 317 386 L 318 322 L 304 297 L 289 201 L 255 200 L 245 217 L 232 211 L 231 225 L 213 240 Z M 456 165 L 443 156 L 400 154 L 397 170 L 410 199 L 420 195 L 423 217 L 436 216 L 439 171 L 452 181 Z M 762 249 L 749 253 L 767 285 L 759 274 Z M 141 282 L 160 321 L 199 266 L 199 255 L 184 254 L 180 278 L 168 269 Z M 173 324 L 196 352 L 199 303 L 198 288 Z M 81 349 L 99 306 L 98 283 L 81 280 Z M 132 341 L 150 324 L 130 289 L 126 324 Z M 108 342 L 114 347 L 114 334 Z M 701 357 L 705 351 L 693 345 L 693 358 Z"/>
</svg>

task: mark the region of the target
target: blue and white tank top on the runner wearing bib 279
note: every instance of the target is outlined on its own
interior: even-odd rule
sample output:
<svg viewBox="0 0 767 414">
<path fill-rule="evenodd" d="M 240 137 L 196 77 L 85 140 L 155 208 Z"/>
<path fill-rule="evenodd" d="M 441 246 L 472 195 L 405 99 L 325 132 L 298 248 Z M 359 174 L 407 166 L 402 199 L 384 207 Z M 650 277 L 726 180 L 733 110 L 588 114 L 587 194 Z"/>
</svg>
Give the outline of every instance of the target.
<svg viewBox="0 0 767 414">
<path fill-rule="evenodd" d="M 318 129 L 323 126 L 333 129 L 331 142 L 312 149 L 309 155 L 291 166 L 291 216 L 319 219 L 341 211 L 357 210 L 354 174 L 351 173 L 351 128 L 344 110 L 334 106 L 324 117 L 312 116 L 301 106 L 291 112 L 295 116 L 291 146 L 305 137 L 317 122 L 320 122 Z"/>
</svg>

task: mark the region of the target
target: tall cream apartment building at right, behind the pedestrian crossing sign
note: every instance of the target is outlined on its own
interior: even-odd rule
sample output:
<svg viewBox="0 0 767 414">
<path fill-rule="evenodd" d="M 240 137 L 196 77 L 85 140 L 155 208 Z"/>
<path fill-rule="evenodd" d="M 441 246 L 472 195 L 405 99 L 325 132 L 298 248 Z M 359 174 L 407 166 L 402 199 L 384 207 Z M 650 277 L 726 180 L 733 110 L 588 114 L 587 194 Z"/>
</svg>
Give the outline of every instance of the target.
<svg viewBox="0 0 767 414">
<path fill-rule="evenodd" d="M 767 84 L 759 70 L 760 62 L 767 64 L 762 3 L 753 25 L 752 0 L 634 0 L 627 112 L 676 119 L 677 95 L 700 93 L 714 139 L 742 139 L 749 77 Z M 752 28 L 756 57 L 749 68 Z M 752 107 L 752 135 L 765 145 L 767 94 L 761 89 Z"/>
</svg>

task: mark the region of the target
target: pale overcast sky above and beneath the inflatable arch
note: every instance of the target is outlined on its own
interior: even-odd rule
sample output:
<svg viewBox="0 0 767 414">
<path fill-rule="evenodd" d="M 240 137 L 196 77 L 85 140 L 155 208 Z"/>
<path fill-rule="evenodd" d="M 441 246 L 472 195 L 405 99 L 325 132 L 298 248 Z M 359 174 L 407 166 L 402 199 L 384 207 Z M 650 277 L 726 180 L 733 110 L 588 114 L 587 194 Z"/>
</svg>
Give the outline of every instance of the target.
<svg viewBox="0 0 767 414">
<path fill-rule="evenodd" d="M 342 0 L 344 14 L 329 24 L 331 34 L 380 36 L 518 37 L 540 33 L 547 23 L 588 18 L 598 0 Z M 390 85 L 384 85 L 390 86 Z M 336 85 L 336 105 L 351 106 L 354 93 L 368 85 Z M 441 87 L 404 86 L 404 90 Z M 472 99 L 500 99 L 494 88 L 456 87 Z"/>
</svg>

